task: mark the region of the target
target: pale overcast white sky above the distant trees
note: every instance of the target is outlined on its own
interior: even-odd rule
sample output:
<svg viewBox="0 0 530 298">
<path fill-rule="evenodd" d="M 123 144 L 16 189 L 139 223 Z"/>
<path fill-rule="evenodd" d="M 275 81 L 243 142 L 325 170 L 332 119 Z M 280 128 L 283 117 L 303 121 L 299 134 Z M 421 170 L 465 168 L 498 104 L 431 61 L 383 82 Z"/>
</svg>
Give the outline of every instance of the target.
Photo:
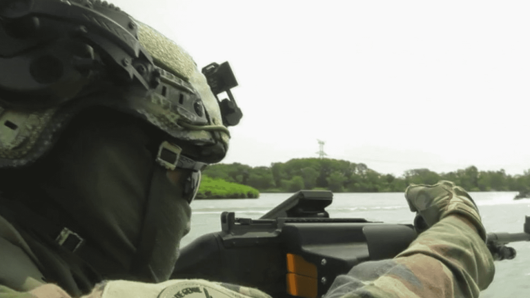
<svg viewBox="0 0 530 298">
<path fill-rule="evenodd" d="M 229 61 L 243 118 L 223 163 L 322 140 L 385 174 L 530 169 L 530 1 L 111 2 L 199 68 Z"/>
</svg>

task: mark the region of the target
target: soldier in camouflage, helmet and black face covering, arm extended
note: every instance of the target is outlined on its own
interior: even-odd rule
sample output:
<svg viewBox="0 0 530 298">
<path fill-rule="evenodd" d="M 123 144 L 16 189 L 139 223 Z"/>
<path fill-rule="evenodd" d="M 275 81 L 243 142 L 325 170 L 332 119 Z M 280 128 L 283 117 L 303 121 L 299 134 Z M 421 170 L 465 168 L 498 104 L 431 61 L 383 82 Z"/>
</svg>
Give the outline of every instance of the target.
<svg viewBox="0 0 530 298">
<path fill-rule="evenodd" d="M 200 171 L 242 116 L 226 64 L 203 75 L 92 0 L 0 0 L 0 41 L 0 297 L 268 297 L 168 280 Z M 443 182 L 406 198 L 431 228 L 338 277 L 328 297 L 477 297 L 491 283 L 471 197 Z"/>
</svg>

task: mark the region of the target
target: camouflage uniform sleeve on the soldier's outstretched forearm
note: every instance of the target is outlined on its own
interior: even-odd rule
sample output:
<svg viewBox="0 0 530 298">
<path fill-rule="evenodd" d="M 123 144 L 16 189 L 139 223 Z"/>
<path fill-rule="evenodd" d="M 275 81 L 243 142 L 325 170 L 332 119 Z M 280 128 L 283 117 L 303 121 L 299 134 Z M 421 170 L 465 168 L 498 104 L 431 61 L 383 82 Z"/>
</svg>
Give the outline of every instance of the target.
<svg viewBox="0 0 530 298">
<path fill-rule="evenodd" d="M 449 216 L 394 259 L 364 262 L 340 275 L 325 298 L 478 297 L 494 273 L 493 258 L 478 233 Z"/>
</svg>

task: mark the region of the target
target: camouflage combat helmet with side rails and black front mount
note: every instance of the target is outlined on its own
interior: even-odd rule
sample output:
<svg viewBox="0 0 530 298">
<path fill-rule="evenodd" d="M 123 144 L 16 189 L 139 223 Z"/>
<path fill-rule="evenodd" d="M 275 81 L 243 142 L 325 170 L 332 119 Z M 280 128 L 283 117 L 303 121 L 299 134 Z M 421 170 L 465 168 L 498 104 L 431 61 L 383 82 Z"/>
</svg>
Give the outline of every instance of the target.
<svg viewBox="0 0 530 298">
<path fill-rule="evenodd" d="M 72 117 L 104 106 L 192 144 L 186 157 L 164 142 L 157 159 L 200 170 L 226 155 L 227 126 L 242 117 L 235 86 L 228 63 L 199 72 L 180 46 L 106 1 L 0 0 L 0 168 L 36 161 Z"/>
</svg>

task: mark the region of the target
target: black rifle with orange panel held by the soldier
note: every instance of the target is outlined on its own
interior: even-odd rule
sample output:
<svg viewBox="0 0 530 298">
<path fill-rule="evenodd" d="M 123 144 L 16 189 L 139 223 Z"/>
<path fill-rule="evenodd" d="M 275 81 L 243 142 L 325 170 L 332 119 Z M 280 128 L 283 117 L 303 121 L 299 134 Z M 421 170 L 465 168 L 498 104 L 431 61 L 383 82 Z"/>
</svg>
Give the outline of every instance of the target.
<svg viewBox="0 0 530 298">
<path fill-rule="evenodd" d="M 258 288 L 272 297 L 322 297 L 337 275 L 363 261 L 389 259 L 418 236 L 411 224 L 329 218 L 333 193 L 300 190 L 259 219 L 222 212 L 220 232 L 182 248 L 173 279 L 208 279 Z M 530 241 L 530 217 L 522 233 L 489 233 L 494 259 L 513 259 L 505 246 Z"/>
</svg>

